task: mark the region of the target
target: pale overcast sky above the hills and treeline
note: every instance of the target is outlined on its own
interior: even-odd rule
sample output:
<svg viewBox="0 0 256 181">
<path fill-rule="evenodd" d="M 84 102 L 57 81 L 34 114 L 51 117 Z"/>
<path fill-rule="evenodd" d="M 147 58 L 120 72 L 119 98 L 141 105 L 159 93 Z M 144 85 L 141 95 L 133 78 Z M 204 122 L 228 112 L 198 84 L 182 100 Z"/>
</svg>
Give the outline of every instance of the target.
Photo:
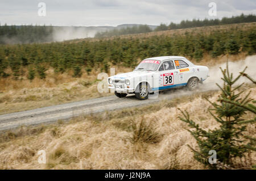
<svg viewBox="0 0 256 181">
<path fill-rule="evenodd" d="M 39 16 L 39 2 L 46 3 L 46 16 Z M 210 2 L 217 16 L 209 16 Z M 222 18 L 256 14 L 255 0 L 1 0 L 1 24 L 46 24 L 55 26 L 117 26 L 118 24 L 179 23 L 193 18 Z"/>
</svg>

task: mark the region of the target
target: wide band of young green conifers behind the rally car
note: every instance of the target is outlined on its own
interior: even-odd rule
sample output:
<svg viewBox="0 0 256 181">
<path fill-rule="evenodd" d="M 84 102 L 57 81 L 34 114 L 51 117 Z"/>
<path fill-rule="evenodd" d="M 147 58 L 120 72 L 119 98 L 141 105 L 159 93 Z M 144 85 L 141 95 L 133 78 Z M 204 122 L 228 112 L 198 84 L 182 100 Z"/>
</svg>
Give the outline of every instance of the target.
<svg viewBox="0 0 256 181">
<path fill-rule="evenodd" d="M 175 33 L 172 36 L 0 45 L 0 78 L 11 76 L 19 79 L 27 69 L 28 79 L 36 76 L 43 79 L 49 67 L 59 73 L 73 70 L 73 76 L 79 77 L 82 69 L 89 74 L 92 69 L 108 72 L 110 64 L 134 67 L 138 58 L 177 55 L 200 61 L 204 53 L 214 58 L 241 51 L 256 53 L 254 24 L 248 28 L 237 25 L 233 28 L 214 28 L 210 32 Z"/>
</svg>

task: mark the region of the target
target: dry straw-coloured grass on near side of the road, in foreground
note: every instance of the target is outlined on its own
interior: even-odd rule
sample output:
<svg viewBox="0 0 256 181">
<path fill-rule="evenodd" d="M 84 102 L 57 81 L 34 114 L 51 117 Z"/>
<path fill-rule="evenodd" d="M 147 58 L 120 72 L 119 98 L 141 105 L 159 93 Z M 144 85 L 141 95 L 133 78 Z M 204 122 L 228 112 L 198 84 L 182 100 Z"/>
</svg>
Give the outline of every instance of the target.
<svg viewBox="0 0 256 181">
<path fill-rule="evenodd" d="M 256 87 L 246 88 L 256 97 Z M 245 92 L 245 93 L 246 93 Z M 193 158 L 187 144 L 196 141 L 177 119 L 177 107 L 187 110 L 204 129 L 218 123 L 207 111 L 203 96 L 216 100 L 220 92 L 184 96 L 139 108 L 81 116 L 69 123 L 22 127 L 0 137 L 0 169 L 205 169 Z M 245 119 L 254 117 L 252 113 Z M 255 124 L 247 125 L 247 135 L 256 136 Z M 47 163 L 38 163 L 38 151 L 45 150 Z M 237 161 L 255 164 L 250 158 Z"/>
</svg>

